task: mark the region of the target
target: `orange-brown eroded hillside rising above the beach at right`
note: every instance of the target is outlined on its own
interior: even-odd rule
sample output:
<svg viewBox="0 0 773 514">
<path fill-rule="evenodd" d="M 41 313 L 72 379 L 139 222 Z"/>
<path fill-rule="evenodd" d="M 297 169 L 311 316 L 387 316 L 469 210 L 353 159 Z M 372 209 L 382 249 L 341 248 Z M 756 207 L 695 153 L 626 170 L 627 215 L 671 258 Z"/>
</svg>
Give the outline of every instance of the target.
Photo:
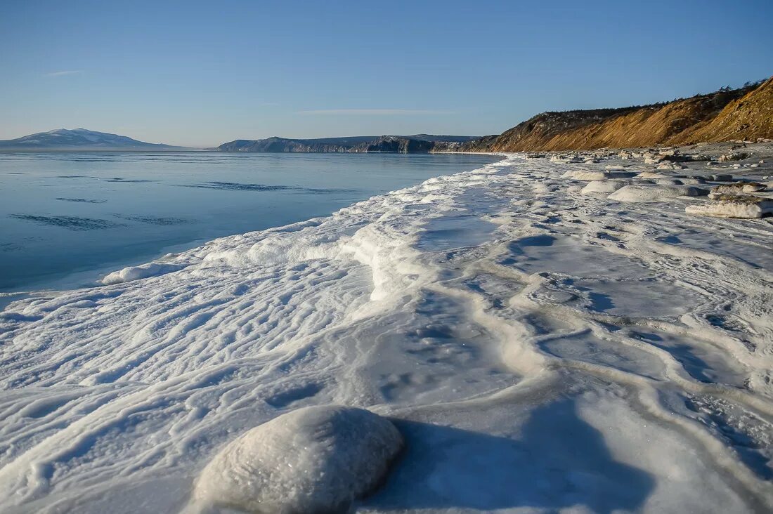
<svg viewBox="0 0 773 514">
<path fill-rule="evenodd" d="M 773 138 L 773 78 L 666 104 L 547 112 L 461 151 L 557 151 Z"/>
</svg>

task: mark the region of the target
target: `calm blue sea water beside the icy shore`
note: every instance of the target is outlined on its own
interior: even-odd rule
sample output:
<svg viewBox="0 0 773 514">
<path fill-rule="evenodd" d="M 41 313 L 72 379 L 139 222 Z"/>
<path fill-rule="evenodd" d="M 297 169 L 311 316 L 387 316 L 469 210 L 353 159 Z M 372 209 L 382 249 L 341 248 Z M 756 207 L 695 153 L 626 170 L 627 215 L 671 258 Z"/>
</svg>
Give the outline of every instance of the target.
<svg viewBox="0 0 773 514">
<path fill-rule="evenodd" d="M 73 288 L 216 237 L 281 226 L 485 155 L 0 153 L 0 291 Z"/>
</svg>

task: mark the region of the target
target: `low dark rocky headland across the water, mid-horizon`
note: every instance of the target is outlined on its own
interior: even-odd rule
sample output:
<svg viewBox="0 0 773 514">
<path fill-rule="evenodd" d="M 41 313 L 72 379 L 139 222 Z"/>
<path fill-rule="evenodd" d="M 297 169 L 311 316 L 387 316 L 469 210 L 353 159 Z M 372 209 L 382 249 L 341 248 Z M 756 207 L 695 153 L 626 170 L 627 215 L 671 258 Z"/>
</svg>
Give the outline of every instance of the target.
<svg viewBox="0 0 773 514">
<path fill-rule="evenodd" d="M 223 143 L 217 151 L 285 151 L 313 153 L 361 153 L 383 151 L 395 153 L 426 153 L 455 148 L 477 136 L 415 134 L 407 136 L 352 136 L 318 139 L 237 139 Z"/>
</svg>

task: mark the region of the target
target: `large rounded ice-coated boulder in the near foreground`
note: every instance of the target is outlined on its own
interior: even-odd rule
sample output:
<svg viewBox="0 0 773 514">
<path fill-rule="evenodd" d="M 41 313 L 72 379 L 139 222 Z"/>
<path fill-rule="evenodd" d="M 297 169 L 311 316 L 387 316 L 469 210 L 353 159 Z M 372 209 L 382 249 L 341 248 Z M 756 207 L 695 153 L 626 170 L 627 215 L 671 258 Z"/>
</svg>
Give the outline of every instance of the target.
<svg viewBox="0 0 773 514">
<path fill-rule="evenodd" d="M 194 494 L 207 506 L 261 514 L 347 512 L 379 484 L 402 446 L 397 428 L 368 410 L 305 407 L 228 444 Z"/>
</svg>

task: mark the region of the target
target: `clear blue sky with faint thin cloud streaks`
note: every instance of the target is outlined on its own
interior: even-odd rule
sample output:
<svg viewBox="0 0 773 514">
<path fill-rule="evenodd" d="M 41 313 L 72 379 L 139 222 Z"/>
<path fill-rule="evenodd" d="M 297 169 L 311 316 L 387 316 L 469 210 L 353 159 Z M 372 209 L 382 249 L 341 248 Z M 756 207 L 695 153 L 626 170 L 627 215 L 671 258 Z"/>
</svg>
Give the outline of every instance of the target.
<svg viewBox="0 0 773 514">
<path fill-rule="evenodd" d="M 0 139 L 494 134 L 773 74 L 773 0 L 0 0 Z"/>
</svg>

